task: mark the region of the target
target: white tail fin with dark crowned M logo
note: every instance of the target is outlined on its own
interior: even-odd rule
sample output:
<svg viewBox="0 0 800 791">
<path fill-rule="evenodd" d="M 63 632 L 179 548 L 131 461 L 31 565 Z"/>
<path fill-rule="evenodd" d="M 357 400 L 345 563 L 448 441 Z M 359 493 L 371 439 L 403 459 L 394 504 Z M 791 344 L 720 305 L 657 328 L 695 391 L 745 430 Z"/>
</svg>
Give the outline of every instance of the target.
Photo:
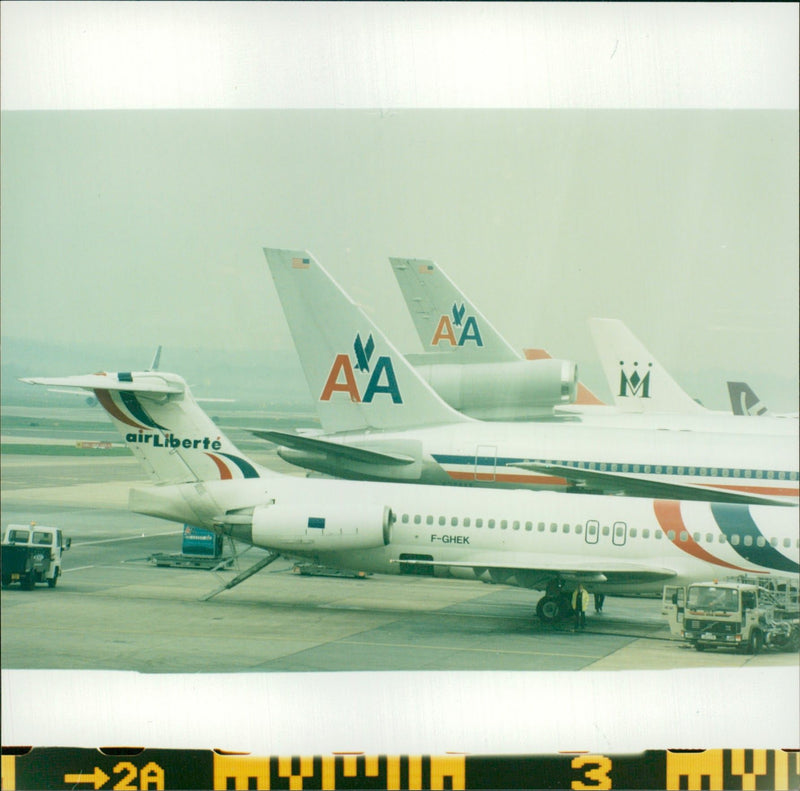
<svg viewBox="0 0 800 791">
<path fill-rule="evenodd" d="M 620 411 L 706 412 L 621 321 L 589 319 L 589 329 Z"/>
</svg>

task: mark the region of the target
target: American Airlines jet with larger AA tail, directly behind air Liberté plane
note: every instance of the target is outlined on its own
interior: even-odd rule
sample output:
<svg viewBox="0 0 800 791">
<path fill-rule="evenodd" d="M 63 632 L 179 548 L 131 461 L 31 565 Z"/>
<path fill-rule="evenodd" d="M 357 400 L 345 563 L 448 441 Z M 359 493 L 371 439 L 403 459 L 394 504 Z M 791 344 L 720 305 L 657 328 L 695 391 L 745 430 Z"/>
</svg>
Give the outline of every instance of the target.
<svg viewBox="0 0 800 791">
<path fill-rule="evenodd" d="M 796 430 L 764 435 L 472 420 L 437 396 L 310 253 L 264 252 L 325 432 L 255 432 L 280 445 L 287 461 L 366 480 L 577 486 L 796 505 Z"/>
</svg>

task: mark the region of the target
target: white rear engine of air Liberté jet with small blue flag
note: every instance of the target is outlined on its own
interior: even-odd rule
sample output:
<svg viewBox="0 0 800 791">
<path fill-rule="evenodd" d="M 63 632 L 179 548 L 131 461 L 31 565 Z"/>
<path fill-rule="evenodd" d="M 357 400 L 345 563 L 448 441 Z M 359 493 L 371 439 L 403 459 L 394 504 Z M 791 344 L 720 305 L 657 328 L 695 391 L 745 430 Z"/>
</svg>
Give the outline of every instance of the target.
<svg viewBox="0 0 800 791">
<path fill-rule="evenodd" d="M 337 552 L 386 546 L 394 514 L 388 506 L 263 505 L 253 511 L 252 543 L 268 549 Z"/>
</svg>

